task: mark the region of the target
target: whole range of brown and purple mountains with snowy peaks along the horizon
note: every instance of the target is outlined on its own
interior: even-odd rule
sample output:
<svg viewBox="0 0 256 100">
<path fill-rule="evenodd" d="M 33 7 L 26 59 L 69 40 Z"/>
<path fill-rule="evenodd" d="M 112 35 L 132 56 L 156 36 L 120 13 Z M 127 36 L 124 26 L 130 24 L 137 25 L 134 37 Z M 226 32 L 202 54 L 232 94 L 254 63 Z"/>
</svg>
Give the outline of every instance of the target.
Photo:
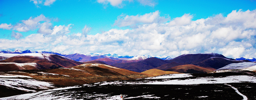
<svg viewBox="0 0 256 100">
<path fill-rule="evenodd" d="M 164 59 L 170 57 L 162 56 Z M 25 60 L 24 60 L 25 59 Z M 87 61 L 100 61 L 114 67 L 134 72 L 149 69 L 175 71 L 179 73 L 208 73 L 232 63 L 251 62 L 246 59 L 235 60 L 218 53 L 184 54 L 170 60 L 151 56 L 119 56 L 117 54 L 89 53 L 63 54 L 58 52 L 1 51 L 0 66 L 2 71 L 21 69 L 69 68 Z M 7 66 L 9 69 L 6 69 Z"/>
</svg>

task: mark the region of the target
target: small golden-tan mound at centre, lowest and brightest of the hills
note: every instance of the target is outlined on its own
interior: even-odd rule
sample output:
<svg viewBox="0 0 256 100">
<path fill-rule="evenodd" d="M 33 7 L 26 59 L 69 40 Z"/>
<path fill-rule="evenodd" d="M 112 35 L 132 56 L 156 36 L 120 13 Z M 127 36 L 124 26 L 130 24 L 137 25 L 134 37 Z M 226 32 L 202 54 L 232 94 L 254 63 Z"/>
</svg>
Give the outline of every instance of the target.
<svg viewBox="0 0 256 100">
<path fill-rule="evenodd" d="M 174 74 L 174 73 L 178 73 L 178 72 L 162 71 L 162 70 L 159 70 L 159 69 L 149 69 L 149 70 L 141 72 L 141 73 L 145 73 L 145 74 L 149 74 L 149 75 L 153 75 L 153 76 L 158 76 L 158 75 L 165 75 L 165 74 Z"/>
</svg>

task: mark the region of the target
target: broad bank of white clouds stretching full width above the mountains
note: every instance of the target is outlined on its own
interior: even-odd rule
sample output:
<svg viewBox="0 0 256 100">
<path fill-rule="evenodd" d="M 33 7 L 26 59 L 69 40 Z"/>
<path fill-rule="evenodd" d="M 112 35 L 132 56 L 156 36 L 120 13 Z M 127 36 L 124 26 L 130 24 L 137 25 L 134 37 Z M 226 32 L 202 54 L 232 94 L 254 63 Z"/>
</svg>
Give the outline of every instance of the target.
<svg viewBox="0 0 256 100">
<path fill-rule="evenodd" d="M 120 15 L 114 24 L 133 26 L 131 29 L 110 29 L 96 35 L 86 34 L 91 29 L 87 25 L 81 33 L 70 34 L 72 24 L 53 27 L 43 15 L 30 17 L 16 25 L 3 23 L 0 28 L 20 32 L 38 29 L 38 33 L 24 38 L 14 35 L 15 40 L 0 39 L 0 48 L 68 54 L 99 52 L 177 57 L 185 53 L 214 52 L 231 58 L 256 57 L 256 10 L 234 10 L 227 16 L 219 14 L 195 21 L 191 14 L 170 20 L 159 13 Z"/>
</svg>

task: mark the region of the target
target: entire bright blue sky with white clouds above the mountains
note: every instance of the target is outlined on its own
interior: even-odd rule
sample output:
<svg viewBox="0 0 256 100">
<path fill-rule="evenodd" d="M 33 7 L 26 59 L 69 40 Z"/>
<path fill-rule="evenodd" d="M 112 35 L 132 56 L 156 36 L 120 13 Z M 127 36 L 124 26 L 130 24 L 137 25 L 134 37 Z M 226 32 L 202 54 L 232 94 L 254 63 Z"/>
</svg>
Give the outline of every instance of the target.
<svg viewBox="0 0 256 100">
<path fill-rule="evenodd" d="M 0 50 L 256 57 L 256 0 L 0 0 Z"/>
</svg>

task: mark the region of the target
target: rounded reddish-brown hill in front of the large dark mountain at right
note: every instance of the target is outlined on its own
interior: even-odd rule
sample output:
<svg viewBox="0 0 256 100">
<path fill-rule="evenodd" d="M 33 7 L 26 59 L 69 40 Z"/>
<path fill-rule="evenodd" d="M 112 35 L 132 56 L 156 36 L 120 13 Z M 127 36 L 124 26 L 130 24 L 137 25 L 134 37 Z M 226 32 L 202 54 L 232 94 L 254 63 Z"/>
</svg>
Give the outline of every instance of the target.
<svg viewBox="0 0 256 100">
<path fill-rule="evenodd" d="M 210 69 L 199 67 L 196 65 L 179 65 L 173 68 L 166 69 L 166 71 L 174 71 L 179 73 L 209 73 L 212 72 Z"/>
</svg>

